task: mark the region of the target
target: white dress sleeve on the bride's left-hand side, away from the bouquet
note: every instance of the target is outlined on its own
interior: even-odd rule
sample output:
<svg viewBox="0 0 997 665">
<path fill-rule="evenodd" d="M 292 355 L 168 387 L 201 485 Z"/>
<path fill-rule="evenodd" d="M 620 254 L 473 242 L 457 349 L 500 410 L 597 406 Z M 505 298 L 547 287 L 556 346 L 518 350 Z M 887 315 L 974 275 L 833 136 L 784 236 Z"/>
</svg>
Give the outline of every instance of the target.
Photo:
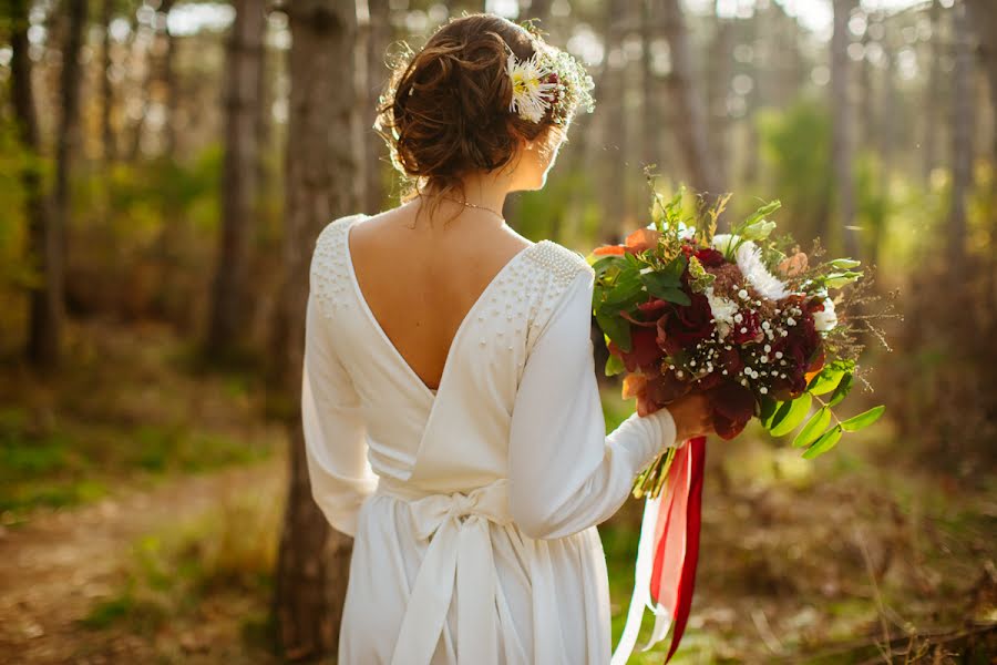
<svg viewBox="0 0 997 665">
<path fill-rule="evenodd" d="M 377 489 L 377 474 L 367 459 L 360 399 L 336 354 L 320 308 L 309 294 L 301 377 L 308 475 L 315 501 L 329 523 L 353 535 L 360 504 Z"/>
</svg>

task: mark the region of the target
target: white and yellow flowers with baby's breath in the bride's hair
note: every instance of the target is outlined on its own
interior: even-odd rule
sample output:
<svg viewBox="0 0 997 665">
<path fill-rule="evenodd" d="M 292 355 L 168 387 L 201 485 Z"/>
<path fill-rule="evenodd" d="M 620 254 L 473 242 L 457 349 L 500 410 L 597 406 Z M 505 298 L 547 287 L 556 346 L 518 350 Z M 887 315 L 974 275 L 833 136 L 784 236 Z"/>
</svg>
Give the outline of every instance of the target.
<svg viewBox="0 0 997 665">
<path fill-rule="evenodd" d="M 520 60 L 510 49 L 506 69 L 512 80 L 511 113 L 530 122 L 541 122 L 553 109 L 555 124 L 564 123 L 577 106 L 592 111 L 592 76 L 568 53 L 545 44 L 534 33 L 534 53 Z"/>
</svg>

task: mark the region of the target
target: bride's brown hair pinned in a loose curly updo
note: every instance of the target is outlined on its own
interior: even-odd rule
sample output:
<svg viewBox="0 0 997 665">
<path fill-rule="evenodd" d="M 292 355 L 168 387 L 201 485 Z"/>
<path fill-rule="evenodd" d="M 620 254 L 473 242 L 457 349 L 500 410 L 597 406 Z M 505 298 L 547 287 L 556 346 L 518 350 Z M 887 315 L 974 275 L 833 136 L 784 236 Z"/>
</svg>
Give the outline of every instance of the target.
<svg viewBox="0 0 997 665">
<path fill-rule="evenodd" d="M 536 49 L 525 28 L 492 14 L 470 14 L 441 27 L 394 69 L 378 108 L 378 133 L 391 162 L 410 181 L 402 196 L 464 201 L 462 176 L 508 164 L 523 141 L 563 137 L 553 108 L 535 123 L 508 111 L 510 50 L 521 60 Z"/>
</svg>

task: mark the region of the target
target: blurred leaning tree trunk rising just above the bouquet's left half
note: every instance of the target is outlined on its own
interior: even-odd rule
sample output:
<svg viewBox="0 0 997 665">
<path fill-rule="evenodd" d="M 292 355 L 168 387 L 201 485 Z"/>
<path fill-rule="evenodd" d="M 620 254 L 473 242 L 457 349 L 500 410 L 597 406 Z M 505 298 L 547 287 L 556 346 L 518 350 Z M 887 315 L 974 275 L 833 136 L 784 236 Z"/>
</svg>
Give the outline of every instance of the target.
<svg viewBox="0 0 997 665">
<path fill-rule="evenodd" d="M 707 201 L 720 195 L 717 168 L 707 137 L 706 104 L 693 84 L 692 58 L 682 9 L 679 0 L 661 2 L 665 37 L 671 50 L 671 72 L 668 86 L 675 108 L 675 129 L 690 185 Z"/>
</svg>

